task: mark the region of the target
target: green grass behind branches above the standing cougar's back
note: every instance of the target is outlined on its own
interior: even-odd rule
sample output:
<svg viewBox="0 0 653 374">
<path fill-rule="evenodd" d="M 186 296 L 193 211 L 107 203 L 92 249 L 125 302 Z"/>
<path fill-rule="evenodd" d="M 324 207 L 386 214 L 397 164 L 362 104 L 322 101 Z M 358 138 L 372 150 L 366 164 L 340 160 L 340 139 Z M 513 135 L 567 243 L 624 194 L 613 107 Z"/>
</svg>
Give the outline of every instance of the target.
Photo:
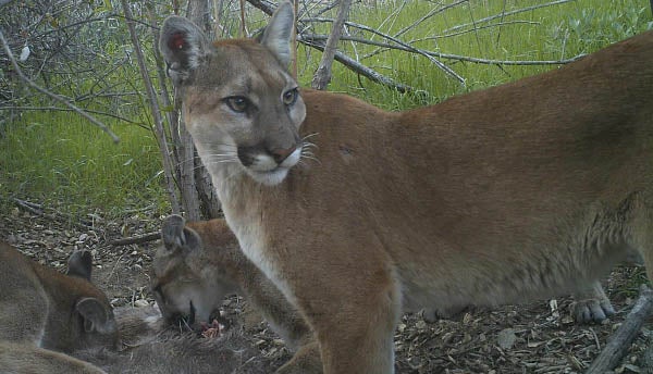
<svg viewBox="0 0 653 374">
<path fill-rule="evenodd" d="M 416 47 L 424 50 L 461 57 L 501 61 L 556 61 L 591 53 L 653 27 L 648 0 L 578 0 L 509 14 L 542 3 L 544 1 L 534 0 L 466 2 L 429 17 L 404 33 L 402 39 L 415 41 Z M 374 26 L 384 34 L 395 35 L 435 7 L 428 1 L 403 4 L 399 1 L 389 1 L 375 10 L 354 10 L 349 18 Z M 497 17 L 484 21 L 491 16 Z M 456 27 L 463 24 L 468 26 Z M 321 27 L 317 34 L 328 33 L 329 24 Z M 353 36 L 371 37 L 369 33 L 355 27 L 349 27 L 348 32 Z M 378 36 L 373 39 L 381 40 Z M 349 92 L 390 110 L 439 102 L 453 95 L 519 79 L 557 66 L 477 64 L 440 59 L 466 79 L 466 87 L 463 87 L 422 55 L 396 50 L 379 52 L 378 47 L 360 43 L 354 49 L 348 41 L 341 42 L 341 49 L 349 55 L 358 55 L 361 63 L 381 74 L 428 92 L 426 99 L 424 95 L 398 95 L 392 89 L 358 77 L 338 64 L 334 65 L 330 90 Z M 298 55 L 308 55 L 299 66 L 305 66 L 300 80 L 309 85 L 310 74 L 319 63 L 319 54 L 303 48 Z"/>
</svg>

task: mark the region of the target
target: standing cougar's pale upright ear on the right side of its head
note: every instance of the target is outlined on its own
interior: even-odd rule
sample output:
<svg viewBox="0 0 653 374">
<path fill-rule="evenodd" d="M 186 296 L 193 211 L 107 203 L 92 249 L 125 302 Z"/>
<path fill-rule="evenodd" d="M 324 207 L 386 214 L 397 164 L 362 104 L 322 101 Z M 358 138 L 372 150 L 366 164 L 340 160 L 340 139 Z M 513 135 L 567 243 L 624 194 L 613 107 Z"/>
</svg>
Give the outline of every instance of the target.
<svg viewBox="0 0 653 374">
<path fill-rule="evenodd" d="M 295 12 L 293 4 L 284 1 L 279 4 L 268 23 L 260 41 L 284 66 L 291 62 L 291 36 L 294 32 Z"/>
</svg>

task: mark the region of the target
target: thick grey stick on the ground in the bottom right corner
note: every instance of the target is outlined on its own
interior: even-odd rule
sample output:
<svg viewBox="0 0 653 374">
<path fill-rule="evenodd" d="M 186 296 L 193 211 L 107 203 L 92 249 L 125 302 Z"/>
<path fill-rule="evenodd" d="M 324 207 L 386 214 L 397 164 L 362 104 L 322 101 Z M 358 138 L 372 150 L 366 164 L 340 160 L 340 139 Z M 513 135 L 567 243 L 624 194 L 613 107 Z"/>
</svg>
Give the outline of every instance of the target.
<svg viewBox="0 0 653 374">
<path fill-rule="evenodd" d="M 653 290 L 645 285 L 640 287 L 640 297 L 621 326 L 613 334 L 599 357 L 586 374 L 603 374 L 616 367 L 628 352 L 630 344 L 637 337 L 644 320 L 653 312 Z"/>
</svg>

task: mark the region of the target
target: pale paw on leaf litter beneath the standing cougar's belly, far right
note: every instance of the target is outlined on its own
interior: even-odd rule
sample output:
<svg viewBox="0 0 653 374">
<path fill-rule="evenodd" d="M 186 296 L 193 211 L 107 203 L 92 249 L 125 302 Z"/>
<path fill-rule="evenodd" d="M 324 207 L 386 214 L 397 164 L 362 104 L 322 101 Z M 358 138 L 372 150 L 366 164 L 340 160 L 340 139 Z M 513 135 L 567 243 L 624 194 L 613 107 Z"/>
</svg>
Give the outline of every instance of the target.
<svg viewBox="0 0 653 374">
<path fill-rule="evenodd" d="M 576 301 L 571 306 L 571 314 L 578 323 L 601 323 L 615 314 L 615 309 L 605 296 L 603 286 L 599 280 L 576 292 L 574 297 Z"/>
</svg>

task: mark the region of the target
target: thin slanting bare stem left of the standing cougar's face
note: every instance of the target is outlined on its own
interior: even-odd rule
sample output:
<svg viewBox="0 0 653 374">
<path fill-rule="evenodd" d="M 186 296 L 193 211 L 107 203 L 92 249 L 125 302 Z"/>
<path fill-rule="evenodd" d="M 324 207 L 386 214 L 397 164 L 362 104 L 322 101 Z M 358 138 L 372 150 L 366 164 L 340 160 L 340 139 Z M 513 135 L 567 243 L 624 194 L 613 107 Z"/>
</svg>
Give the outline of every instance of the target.
<svg viewBox="0 0 653 374">
<path fill-rule="evenodd" d="M 127 0 L 121 0 L 121 3 L 123 7 L 123 12 L 125 13 L 127 29 L 130 30 L 130 36 L 132 37 L 132 43 L 134 45 L 134 52 L 136 53 L 136 60 L 138 61 L 140 76 L 143 77 L 143 83 L 145 84 L 150 109 L 152 111 L 152 117 L 155 120 L 157 140 L 159 141 L 161 158 L 163 159 L 163 175 L 165 176 L 165 188 L 168 189 L 168 196 L 170 197 L 170 204 L 172 205 L 172 212 L 178 214 L 180 202 L 175 194 L 174 178 L 172 176 L 172 164 L 170 162 L 170 151 L 168 149 L 168 141 L 165 141 L 165 130 L 163 129 L 163 119 L 161 117 L 159 101 L 157 100 L 155 86 L 152 85 L 147 66 L 145 65 L 145 57 L 143 55 L 140 41 L 138 41 L 138 36 L 136 36 L 132 9 L 130 8 Z"/>
</svg>

